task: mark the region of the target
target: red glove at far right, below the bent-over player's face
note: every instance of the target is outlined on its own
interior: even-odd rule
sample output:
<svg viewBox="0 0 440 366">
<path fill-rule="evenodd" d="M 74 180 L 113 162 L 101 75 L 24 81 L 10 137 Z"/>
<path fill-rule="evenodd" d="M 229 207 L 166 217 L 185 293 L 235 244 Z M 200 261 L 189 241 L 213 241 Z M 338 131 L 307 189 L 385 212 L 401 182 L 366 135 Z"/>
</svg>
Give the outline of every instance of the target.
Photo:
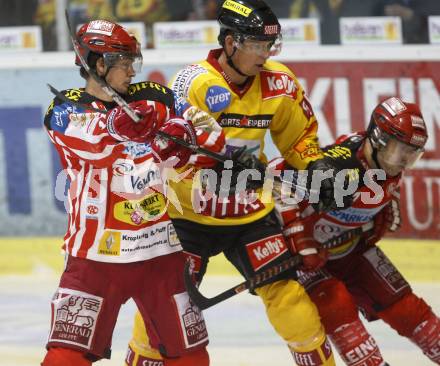
<svg viewBox="0 0 440 366">
<path fill-rule="evenodd" d="M 387 232 L 399 230 L 402 224 L 400 215 L 400 203 L 398 199 L 392 199 L 376 216 L 374 216 L 374 227 L 364 233 L 365 241 L 369 245 L 376 244 Z"/>
</svg>

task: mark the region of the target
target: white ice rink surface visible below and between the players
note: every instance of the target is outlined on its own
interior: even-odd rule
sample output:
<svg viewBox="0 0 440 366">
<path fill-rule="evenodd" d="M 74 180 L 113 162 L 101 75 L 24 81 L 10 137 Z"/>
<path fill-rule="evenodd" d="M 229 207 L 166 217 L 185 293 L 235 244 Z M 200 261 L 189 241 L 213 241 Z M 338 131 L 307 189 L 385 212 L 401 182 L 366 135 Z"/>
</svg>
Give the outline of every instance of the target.
<svg viewBox="0 0 440 366">
<path fill-rule="evenodd" d="M 207 296 L 241 282 L 238 276 L 209 276 L 202 292 Z M 0 366 L 35 366 L 44 355 L 50 307 L 58 275 L 45 268 L 32 275 L 0 276 Z M 440 314 L 440 283 L 415 283 L 415 292 Z M 135 306 L 121 310 L 113 336 L 113 355 L 97 365 L 123 365 Z M 240 294 L 207 309 L 209 353 L 213 366 L 288 366 L 294 362 L 266 320 L 256 296 Z M 408 340 L 381 322 L 367 327 L 391 366 L 428 366 L 432 363 Z M 337 359 L 338 365 L 343 365 Z"/>
</svg>

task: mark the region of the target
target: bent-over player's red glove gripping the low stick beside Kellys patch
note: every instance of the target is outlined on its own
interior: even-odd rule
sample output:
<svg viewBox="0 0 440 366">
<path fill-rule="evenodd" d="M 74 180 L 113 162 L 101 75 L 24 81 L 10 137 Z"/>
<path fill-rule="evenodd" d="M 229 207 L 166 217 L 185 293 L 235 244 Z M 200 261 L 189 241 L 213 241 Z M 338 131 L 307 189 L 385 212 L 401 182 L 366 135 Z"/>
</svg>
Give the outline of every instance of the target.
<svg viewBox="0 0 440 366">
<path fill-rule="evenodd" d="M 323 267 L 328 259 L 328 250 L 321 248 L 313 239 L 313 226 L 309 220 L 294 221 L 283 229 L 290 251 L 302 256 L 304 271 L 316 271 Z"/>
</svg>

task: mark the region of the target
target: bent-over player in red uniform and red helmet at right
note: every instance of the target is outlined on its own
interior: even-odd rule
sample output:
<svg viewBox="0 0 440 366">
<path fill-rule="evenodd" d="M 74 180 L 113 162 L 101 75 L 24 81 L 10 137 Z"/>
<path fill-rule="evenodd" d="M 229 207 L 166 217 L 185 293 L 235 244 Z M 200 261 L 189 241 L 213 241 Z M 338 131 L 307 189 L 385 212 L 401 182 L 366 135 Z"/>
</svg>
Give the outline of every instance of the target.
<svg viewBox="0 0 440 366">
<path fill-rule="evenodd" d="M 440 319 L 375 245 L 400 227 L 402 174 L 423 154 L 427 138 L 416 104 L 397 97 L 384 100 L 373 110 L 367 131 L 342 136 L 323 149 L 327 159 L 357 178 L 350 207 L 308 215 L 307 205 L 289 206 L 278 199 L 285 236 L 304 258 L 298 281 L 318 306 L 327 335 L 346 365 L 387 365 L 359 310 L 369 321 L 386 322 L 440 365 Z M 322 250 L 328 261 L 315 270 L 308 257 Z"/>
</svg>

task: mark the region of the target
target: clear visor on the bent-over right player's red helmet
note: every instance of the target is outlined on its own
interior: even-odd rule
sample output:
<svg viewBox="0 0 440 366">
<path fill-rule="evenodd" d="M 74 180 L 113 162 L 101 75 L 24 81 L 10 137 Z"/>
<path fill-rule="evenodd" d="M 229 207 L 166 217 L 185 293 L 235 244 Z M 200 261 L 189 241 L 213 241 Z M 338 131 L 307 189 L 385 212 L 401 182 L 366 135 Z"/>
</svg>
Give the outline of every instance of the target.
<svg viewBox="0 0 440 366">
<path fill-rule="evenodd" d="M 390 138 L 386 146 L 380 149 L 383 162 L 401 170 L 412 168 L 424 152 L 423 147 L 409 145 L 395 138 Z"/>
</svg>

